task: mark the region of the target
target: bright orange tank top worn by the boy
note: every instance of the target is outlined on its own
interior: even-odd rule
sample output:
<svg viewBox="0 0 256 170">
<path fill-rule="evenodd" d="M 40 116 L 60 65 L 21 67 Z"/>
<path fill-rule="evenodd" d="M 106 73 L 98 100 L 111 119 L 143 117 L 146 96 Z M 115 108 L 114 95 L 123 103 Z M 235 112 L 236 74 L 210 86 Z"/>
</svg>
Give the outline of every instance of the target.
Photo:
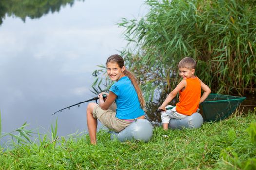
<svg viewBox="0 0 256 170">
<path fill-rule="evenodd" d="M 184 91 L 179 91 L 179 103 L 176 111 L 184 115 L 192 115 L 199 107 L 201 98 L 201 83 L 198 77 L 186 79 L 187 86 Z"/>
</svg>

